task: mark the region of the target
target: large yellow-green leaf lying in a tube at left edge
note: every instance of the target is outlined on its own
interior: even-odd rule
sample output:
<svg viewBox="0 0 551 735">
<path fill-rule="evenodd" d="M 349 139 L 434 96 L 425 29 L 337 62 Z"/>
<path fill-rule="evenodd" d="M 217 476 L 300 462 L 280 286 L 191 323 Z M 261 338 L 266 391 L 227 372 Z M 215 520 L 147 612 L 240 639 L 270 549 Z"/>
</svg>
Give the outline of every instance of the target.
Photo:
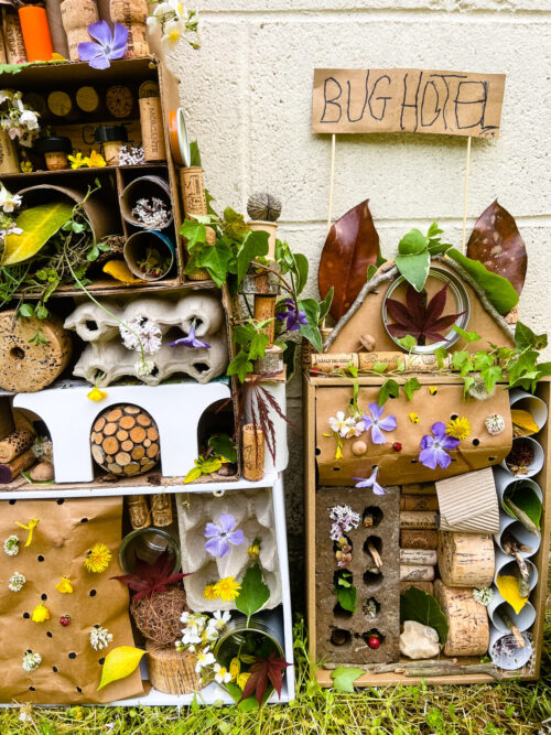
<svg viewBox="0 0 551 735">
<path fill-rule="evenodd" d="M 6 238 L 2 266 L 14 266 L 35 256 L 72 216 L 73 207 L 67 202 L 24 209 L 15 220 L 23 233 Z"/>
</svg>

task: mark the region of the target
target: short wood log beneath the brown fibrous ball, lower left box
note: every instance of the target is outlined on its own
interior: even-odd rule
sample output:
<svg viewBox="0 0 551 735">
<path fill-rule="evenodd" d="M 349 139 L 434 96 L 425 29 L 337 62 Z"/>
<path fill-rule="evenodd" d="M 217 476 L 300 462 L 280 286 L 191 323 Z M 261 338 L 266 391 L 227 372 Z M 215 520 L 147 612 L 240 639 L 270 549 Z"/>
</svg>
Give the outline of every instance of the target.
<svg viewBox="0 0 551 735">
<path fill-rule="evenodd" d="M 156 691 L 164 694 L 191 694 L 201 689 L 199 674 L 195 673 L 196 658 L 188 651 L 174 647 L 158 648 L 151 641 L 148 651 L 149 680 Z"/>
</svg>

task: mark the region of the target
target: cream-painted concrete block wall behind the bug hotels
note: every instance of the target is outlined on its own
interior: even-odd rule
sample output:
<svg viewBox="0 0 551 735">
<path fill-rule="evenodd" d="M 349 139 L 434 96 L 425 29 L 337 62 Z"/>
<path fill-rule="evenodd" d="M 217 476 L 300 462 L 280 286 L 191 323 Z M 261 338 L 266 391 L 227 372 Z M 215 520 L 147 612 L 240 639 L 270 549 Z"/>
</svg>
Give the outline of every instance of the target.
<svg viewBox="0 0 551 735">
<path fill-rule="evenodd" d="M 473 142 L 468 226 L 496 197 L 516 217 L 530 258 L 521 318 L 536 331 L 549 327 L 550 0 L 202 0 L 198 9 L 201 50 L 182 45 L 169 64 L 181 78 L 207 186 L 220 210 L 245 212 L 256 190 L 282 198 L 280 237 L 307 256 L 310 294 L 326 234 L 331 151 L 329 136 L 310 132 L 314 67 L 505 73 L 501 134 Z M 369 198 L 386 256 L 403 233 L 433 219 L 458 244 L 465 154 L 464 138 L 341 136 L 333 216 Z M 288 409 L 300 423 L 299 380 Z M 302 451 L 296 441 L 290 448 L 288 522 L 299 604 Z"/>
</svg>

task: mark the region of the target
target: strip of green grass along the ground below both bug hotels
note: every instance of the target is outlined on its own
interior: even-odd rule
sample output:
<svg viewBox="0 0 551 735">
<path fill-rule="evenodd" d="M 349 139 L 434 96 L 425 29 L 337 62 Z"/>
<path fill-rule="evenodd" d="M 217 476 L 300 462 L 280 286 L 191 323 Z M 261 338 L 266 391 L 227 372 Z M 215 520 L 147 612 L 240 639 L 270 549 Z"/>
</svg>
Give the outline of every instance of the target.
<svg viewBox="0 0 551 735">
<path fill-rule="evenodd" d="M 296 700 L 260 713 L 237 707 L 23 707 L 0 713 L 1 735 L 417 735 L 551 733 L 551 615 L 541 679 L 533 683 L 388 687 L 344 694 L 310 678 L 303 624 L 295 626 Z M 549 723 L 541 724 L 545 720 Z"/>
</svg>

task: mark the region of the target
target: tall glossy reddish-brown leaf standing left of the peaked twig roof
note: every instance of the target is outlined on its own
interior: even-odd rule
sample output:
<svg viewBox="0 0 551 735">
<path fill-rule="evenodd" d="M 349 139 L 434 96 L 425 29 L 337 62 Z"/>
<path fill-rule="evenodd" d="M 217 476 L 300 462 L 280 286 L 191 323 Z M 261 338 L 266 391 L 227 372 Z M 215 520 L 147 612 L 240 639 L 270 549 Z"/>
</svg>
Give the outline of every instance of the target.
<svg viewBox="0 0 551 735">
<path fill-rule="evenodd" d="M 353 305 L 366 283 L 368 267 L 377 262 L 379 255 L 379 235 L 368 202 L 357 204 L 336 220 L 322 250 L 317 284 L 322 299 L 335 287 L 329 310 L 335 320 Z"/>
</svg>

